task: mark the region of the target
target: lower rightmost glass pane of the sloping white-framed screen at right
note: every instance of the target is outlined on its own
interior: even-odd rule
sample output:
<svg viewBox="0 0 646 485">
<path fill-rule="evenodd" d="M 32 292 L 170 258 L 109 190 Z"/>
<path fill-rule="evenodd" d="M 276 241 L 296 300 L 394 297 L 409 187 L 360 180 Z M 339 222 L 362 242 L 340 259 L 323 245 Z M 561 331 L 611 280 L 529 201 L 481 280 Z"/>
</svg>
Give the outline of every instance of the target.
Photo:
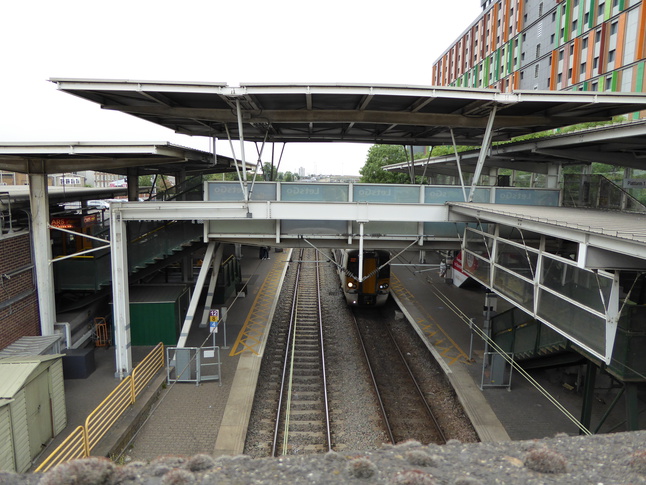
<svg viewBox="0 0 646 485">
<path fill-rule="evenodd" d="M 546 290 L 540 292 L 538 315 L 600 355 L 605 354 L 605 319 Z"/>
</svg>

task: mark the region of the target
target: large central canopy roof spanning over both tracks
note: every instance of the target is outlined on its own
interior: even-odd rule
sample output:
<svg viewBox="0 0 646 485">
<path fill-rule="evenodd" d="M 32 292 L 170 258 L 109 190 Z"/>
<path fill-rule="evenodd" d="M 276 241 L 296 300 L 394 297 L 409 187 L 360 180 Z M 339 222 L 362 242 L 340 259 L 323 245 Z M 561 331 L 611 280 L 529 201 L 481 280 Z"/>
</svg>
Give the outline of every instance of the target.
<svg viewBox="0 0 646 485">
<path fill-rule="evenodd" d="M 361 84 L 183 83 L 55 78 L 104 109 L 178 133 L 271 142 L 479 145 L 496 107 L 494 140 L 646 109 L 646 97 Z M 243 133 L 239 131 L 238 107 Z"/>
</svg>

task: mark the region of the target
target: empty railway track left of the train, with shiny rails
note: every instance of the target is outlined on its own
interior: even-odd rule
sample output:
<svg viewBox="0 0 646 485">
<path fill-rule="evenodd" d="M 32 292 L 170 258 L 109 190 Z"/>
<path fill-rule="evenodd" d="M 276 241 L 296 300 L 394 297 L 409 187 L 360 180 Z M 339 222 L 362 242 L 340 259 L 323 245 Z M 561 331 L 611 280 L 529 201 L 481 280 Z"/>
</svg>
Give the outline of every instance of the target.
<svg viewBox="0 0 646 485">
<path fill-rule="evenodd" d="M 272 456 L 332 449 L 316 251 L 298 256 Z"/>
</svg>

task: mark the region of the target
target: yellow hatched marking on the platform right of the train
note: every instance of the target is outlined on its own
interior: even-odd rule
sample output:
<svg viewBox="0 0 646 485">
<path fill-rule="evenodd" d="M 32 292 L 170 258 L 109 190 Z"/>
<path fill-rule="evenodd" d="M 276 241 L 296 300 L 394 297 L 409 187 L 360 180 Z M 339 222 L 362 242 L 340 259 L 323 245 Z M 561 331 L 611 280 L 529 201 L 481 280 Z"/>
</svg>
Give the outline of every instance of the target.
<svg viewBox="0 0 646 485">
<path fill-rule="evenodd" d="M 411 305 L 414 305 L 421 317 L 417 319 L 416 323 L 420 330 L 427 336 L 429 342 L 437 351 L 444 357 L 449 365 L 456 362 L 470 364 L 469 356 L 464 352 L 460 346 L 444 331 L 442 326 L 435 321 L 435 319 L 417 303 L 415 296 L 408 291 L 402 282 L 394 274 L 390 274 L 390 284 L 392 291 L 395 292 L 400 301 L 408 300 Z"/>
</svg>

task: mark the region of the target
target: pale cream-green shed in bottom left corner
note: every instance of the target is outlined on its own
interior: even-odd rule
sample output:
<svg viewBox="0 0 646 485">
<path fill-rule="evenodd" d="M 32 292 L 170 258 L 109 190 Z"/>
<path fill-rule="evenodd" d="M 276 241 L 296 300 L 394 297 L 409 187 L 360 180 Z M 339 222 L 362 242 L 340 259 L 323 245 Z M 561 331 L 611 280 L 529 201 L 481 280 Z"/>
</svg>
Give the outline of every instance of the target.
<svg viewBox="0 0 646 485">
<path fill-rule="evenodd" d="M 0 470 L 26 472 L 67 426 L 61 357 L 0 359 Z"/>
</svg>

